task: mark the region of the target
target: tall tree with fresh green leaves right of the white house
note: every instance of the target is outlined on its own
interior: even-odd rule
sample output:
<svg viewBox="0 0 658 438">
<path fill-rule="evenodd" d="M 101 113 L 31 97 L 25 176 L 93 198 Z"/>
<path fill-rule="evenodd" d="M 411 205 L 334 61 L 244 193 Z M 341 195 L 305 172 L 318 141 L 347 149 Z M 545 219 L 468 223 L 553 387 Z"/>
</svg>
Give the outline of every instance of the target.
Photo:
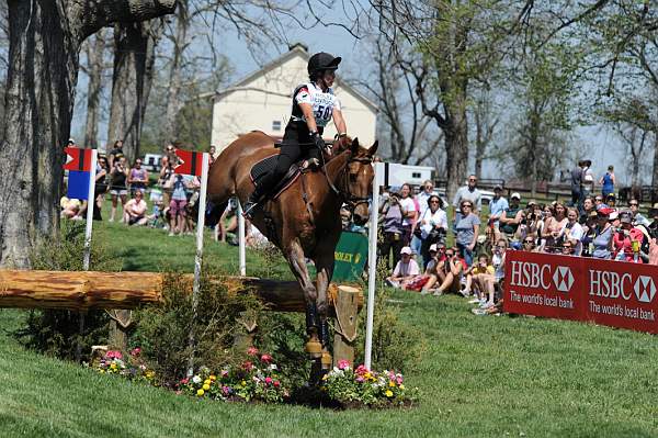
<svg viewBox="0 0 658 438">
<path fill-rule="evenodd" d="M 447 195 L 464 181 L 468 164 L 470 88 L 486 83 L 506 53 L 506 42 L 523 8 L 512 1 L 384 2 L 373 10 L 387 23 L 381 27 L 396 63 L 413 77 L 422 112 L 443 132 Z M 398 42 L 421 54 L 406 57 Z"/>
</svg>

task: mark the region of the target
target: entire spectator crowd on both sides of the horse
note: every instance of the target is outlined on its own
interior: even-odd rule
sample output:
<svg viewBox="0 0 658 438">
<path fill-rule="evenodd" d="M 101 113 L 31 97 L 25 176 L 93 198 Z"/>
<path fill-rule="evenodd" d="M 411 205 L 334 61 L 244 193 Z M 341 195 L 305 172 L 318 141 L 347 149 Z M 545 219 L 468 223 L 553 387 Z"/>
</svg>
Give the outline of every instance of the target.
<svg viewBox="0 0 658 438">
<path fill-rule="evenodd" d="M 214 147 L 211 154 L 214 159 Z M 168 145 L 151 178 L 143 159 L 129 166 L 123 143 L 115 142 L 107 156 L 98 160 L 94 220 L 102 220 L 103 203 L 110 196 L 109 222 L 118 218 L 126 226 L 162 228 L 169 236 L 192 234 L 192 206 L 201 183 L 196 177 L 177 173 L 177 164 L 174 146 Z M 476 176 L 468 177 L 456 191 L 452 209 L 430 180 L 420 187 L 385 188 L 378 212 L 378 252 L 390 270 L 387 282 L 392 287 L 423 295 L 461 294 L 476 304 L 475 314 L 486 315 L 501 311 L 508 249 L 658 265 L 658 204 L 648 210 L 647 217 L 636 199 L 619 205 L 612 166 L 598 180 L 597 193 L 591 161 L 579 161 L 570 172 L 569 202 L 523 202 L 518 192 L 508 199 L 503 188 L 496 186 L 483 209 L 477 182 Z M 81 220 L 86 210 L 87 201 L 61 199 L 63 217 Z M 215 227 L 217 240 L 227 242 L 227 234 L 236 232 L 236 214 L 231 202 Z M 349 210 L 341 210 L 341 220 L 343 229 L 365 232 L 353 224 Z M 266 242 L 247 223 L 248 245 Z"/>
</svg>

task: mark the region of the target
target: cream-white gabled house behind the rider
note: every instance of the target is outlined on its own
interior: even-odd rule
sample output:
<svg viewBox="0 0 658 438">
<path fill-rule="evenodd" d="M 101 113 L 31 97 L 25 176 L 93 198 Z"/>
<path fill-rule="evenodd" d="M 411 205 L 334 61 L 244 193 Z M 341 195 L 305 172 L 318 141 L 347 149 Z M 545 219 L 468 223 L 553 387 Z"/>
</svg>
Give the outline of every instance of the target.
<svg viewBox="0 0 658 438">
<path fill-rule="evenodd" d="M 217 153 L 251 131 L 262 131 L 279 139 L 283 136 L 291 115 L 293 90 L 308 81 L 306 65 L 309 57 L 307 48 L 296 44 L 262 69 L 215 92 L 211 144 L 216 146 Z M 333 91 L 340 99 L 348 134 L 359 137 L 364 145 L 372 145 L 377 105 L 341 80 L 340 69 Z M 334 134 L 336 127 L 331 123 L 324 137 L 332 139 Z"/>
</svg>

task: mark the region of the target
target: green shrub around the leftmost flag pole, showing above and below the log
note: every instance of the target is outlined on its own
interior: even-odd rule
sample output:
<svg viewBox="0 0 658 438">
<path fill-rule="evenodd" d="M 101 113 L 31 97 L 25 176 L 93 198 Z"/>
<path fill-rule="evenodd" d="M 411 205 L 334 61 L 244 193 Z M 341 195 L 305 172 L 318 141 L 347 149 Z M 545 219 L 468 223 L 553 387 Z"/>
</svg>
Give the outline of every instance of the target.
<svg viewBox="0 0 658 438">
<path fill-rule="evenodd" d="M 102 244 L 104 235 L 95 233 L 91 245 L 90 269 L 117 271 L 122 260 Z M 46 242 L 31 255 L 32 269 L 81 271 L 84 249 L 84 223 L 61 223 L 59 238 Z M 25 327 L 13 335 L 26 348 L 60 359 L 76 359 L 78 347 L 82 359 L 88 359 L 92 345 L 105 344 L 110 318 L 104 311 L 84 315 L 80 333 L 80 313 L 63 310 L 33 310 L 27 313 Z"/>
</svg>

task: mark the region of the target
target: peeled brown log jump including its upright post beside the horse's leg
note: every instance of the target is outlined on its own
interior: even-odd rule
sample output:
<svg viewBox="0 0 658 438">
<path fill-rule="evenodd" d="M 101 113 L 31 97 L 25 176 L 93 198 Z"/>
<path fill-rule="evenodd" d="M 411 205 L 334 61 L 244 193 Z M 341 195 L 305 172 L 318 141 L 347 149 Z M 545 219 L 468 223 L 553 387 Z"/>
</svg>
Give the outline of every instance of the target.
<svg viewBox="0 0 658 438">
<path fill-rule="evenodd" d="M 92 308 L 131 310 L 162 301 L 163 273 L 94 271 L 0 270 L 0 307 L 60 308 L 86 312 Z M 182 274 L 192 284 L 192 274 Z M 296 281 L 252 277 L 214 278 L 231 282 L 240 293 L 253 293 L 273 312 L 305 312 L 304 292 Z M 189 288 L 191 291 L 192 288 Z M 331 284 L 330 315 L 336 318 L 334 362 L 354 361 L 354 340 L 363 293 L 358 288 Z M 247 327 L 249 330 L 249 327 Z M 256 328 L 256 324 L 251 330 Z"/>
</svg>

